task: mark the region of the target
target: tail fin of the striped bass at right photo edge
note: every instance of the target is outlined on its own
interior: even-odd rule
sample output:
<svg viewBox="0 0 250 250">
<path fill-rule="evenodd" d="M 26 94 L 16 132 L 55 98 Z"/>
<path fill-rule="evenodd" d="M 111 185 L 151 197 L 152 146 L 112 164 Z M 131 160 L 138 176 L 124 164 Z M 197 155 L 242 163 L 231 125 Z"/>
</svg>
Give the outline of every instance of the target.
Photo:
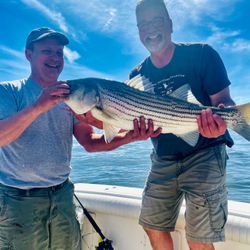
<svg viewBox="0 0 250 250">
<path fill-rule="evenodd" d="M 231 127 L 235 132 L 250 141 L 250 103 L 235 106 L 241 113 L 241 119 Z"/>
</svg>

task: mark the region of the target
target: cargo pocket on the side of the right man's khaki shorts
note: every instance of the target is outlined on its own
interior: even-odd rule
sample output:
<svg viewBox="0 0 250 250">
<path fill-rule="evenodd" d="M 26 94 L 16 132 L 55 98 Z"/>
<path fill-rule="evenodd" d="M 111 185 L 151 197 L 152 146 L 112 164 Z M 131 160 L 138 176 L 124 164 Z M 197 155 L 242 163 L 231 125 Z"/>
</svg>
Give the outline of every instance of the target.
<svg viewBox="0 0 250 250">
<path fill-rule="evenodd" d="M 227 221 L 227 190 L 225 187 L 216 190 L 216 193 L 208 193 L 206 202 L 209 208 L 210 225 L 214 231 L 221 231 Z"/>
</svg>

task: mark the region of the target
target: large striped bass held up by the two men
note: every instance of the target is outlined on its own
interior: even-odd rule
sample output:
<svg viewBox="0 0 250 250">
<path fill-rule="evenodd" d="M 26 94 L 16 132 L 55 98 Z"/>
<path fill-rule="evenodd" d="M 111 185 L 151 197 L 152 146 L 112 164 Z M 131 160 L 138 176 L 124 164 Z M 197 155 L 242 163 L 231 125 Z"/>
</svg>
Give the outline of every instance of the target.
<svg viewBox="0 0 250 250">
<path fill-rule="evenodd" d="M 187 95 L 186 85 L 163 97 L 140 90 L 143 81 L 140 77 L 127 83 L 100 78 L 68 80 L 70 94 L 65 103 L 76 114 L 91 111 L 102 121 L 106 142 L 112 141 L 120 129 L 133 130 L 133 120 L 144 116 L 153 120 L 155 129 L 161 127 L 162 133 L 173 133 L 195 146 L 199 139 L 196 117 L 208 107 L 197 104 L 197 100 L 187 101 L 192 94 Z M 222 117 L 228 128 L 250 141 L 250 103 L 209 108 Z"/>
</svg>

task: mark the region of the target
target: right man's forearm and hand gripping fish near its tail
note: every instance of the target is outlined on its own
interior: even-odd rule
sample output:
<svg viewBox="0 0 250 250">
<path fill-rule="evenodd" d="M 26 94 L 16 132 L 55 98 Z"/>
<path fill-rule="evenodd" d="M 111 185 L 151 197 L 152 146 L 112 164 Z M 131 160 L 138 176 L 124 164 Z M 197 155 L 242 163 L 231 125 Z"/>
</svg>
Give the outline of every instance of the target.
<svg viewBox="0 0 250 250">
<path fill-rule="evenodd" d="M 210 100 L 213 106 L 220 108 L 235 105 L 228 87 L 211 95 Z M 227 129 L 225 121 L 219 115 L 213 114 L 211 109 L 203 110 L 201 115 L 197 117 L 197 122 L 201 135 L 207 138 L 216 138 L 223 135 Z"/>
</svg>

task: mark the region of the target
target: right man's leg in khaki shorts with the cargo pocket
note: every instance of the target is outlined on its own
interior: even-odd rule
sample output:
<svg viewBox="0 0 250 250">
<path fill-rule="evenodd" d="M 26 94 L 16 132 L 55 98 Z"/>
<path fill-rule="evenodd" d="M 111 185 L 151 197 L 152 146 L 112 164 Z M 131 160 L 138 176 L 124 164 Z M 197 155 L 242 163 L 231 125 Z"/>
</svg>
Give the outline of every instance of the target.
<svg viewBox="0 0 250 250">
<path fill-rule="evenodd" d="M 186 200 L 186 237 L 190 249 L 213 250 L 213 242 L 224 241 L 227 220 L 225 145 L 186 157 L 179 176 Z"/>
</svg>

